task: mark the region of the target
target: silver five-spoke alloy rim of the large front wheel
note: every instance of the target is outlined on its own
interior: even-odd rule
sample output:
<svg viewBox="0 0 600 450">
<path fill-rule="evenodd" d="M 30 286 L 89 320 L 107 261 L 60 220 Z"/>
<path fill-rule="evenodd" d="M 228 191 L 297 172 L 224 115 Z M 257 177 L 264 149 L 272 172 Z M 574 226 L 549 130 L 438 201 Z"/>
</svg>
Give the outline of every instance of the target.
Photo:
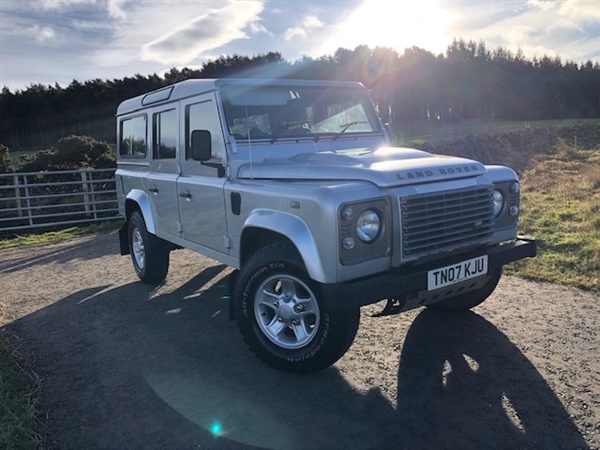
<svg viewBox="0 0 600 450">
<path fill-rule="evenodd" d="M 254 316 L 265 336 L 288 350 L 310 343 L 321 321 L 317 298 L 304 282 L 291 275 L 274 275 L 261 283 Z"/>
</svg>

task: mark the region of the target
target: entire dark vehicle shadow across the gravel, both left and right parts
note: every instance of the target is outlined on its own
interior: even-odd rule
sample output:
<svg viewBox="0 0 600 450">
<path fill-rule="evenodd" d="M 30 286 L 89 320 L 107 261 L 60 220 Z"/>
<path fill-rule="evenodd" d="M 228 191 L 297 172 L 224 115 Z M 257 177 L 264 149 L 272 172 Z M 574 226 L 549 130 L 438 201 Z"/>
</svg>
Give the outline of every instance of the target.
<svg viewBox="0 0 600 450">
<path fill-rule="evenodd" d="M 586 448 L 537 370 L 475 313 L 419 314 L 395 408 L 335 367 L 260 363 L 227 318 L 224 270 L 167 293 L 83 289 L 9 325 L 42 379 L 48 448 Z"/>
</svg>

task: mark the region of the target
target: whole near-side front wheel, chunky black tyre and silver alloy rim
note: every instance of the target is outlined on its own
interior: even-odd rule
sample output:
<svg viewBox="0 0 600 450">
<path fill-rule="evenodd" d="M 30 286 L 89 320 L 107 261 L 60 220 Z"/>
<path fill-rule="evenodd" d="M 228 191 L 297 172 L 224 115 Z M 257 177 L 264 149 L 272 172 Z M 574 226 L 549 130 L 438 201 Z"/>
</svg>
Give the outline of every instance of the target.
<svg viewBox="0 0 600 450">
<path fill-rule="evenodd" d="M 250 350 L 268 365 L 296 373 L 335 363 L 352 345 L 360 310 L 328 311 L 295 247 L 275 243 L 246 262 L 236 282 L 234 309 Z"/>
</svg>

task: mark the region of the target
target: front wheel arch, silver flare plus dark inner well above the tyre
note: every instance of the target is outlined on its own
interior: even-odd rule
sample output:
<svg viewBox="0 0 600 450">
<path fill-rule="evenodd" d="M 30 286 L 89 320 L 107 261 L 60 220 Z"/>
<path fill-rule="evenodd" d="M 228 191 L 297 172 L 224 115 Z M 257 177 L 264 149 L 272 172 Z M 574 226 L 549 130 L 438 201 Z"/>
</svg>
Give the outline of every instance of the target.
<svg viewBox="0 0 600 450">
<path fill-rule="evenodd" d="M 306 222 L 282 211 L 256 210 L 244 224 L 240 245 L 240 266 L 261 247 L 273 242 L 290 242 L 302 258 L 310 278 L 325 283 L 327 277 L 317 243 Z"/>
</svg>

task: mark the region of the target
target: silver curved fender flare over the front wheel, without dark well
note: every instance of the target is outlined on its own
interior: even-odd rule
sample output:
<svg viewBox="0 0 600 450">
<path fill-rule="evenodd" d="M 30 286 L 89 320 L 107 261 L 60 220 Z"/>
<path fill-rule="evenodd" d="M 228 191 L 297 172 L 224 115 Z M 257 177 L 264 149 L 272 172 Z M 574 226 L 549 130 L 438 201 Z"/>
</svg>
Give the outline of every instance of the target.
<svg viewBox="0 0 600 450">
<path fill-rule="evenodd" d="M 304 220 L 286 212 L 260 209 L 248 216 L 245 227 L 263 228 L 287 237 L 298 249 L 308 275 L 320 283 L 327 282 L 317 243 Z"/>
</svg>

